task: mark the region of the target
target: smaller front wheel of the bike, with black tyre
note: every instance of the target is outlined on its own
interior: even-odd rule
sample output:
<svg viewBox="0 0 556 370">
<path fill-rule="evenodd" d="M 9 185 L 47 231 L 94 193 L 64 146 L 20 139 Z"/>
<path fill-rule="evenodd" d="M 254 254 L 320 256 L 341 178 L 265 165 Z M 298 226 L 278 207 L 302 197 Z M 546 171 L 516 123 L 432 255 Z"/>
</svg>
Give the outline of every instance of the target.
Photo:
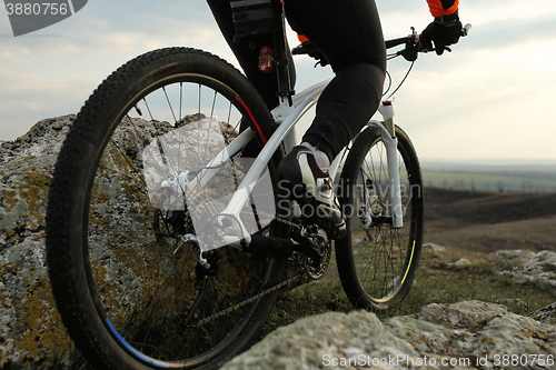
<svg viewBox="0 0 556 370">
<path fill-rule="evenodd" d="M 403 300 L 415 278 L 423 242 L 420 167 L 407 134 L 396 128 L 404 227 L 391 224 L 386 147 L 380 130 L 366 128 L 346 159 L 340 202 L 347 234 L 336 244 L 344 290 L 357 308 L 388 309 Z"/>
</svg>

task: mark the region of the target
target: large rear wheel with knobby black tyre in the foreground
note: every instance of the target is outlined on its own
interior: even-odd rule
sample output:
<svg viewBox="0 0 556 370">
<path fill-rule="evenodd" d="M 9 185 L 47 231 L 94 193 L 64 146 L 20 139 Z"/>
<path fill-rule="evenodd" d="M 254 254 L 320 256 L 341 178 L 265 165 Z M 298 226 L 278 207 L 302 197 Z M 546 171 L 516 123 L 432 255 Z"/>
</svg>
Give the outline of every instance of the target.
<svg viewBox="0 0 556 370">
<path fill-rule="evenodd" d="M 247 127 L 252 139 L 231 149 Z M 277 292 L 250 298 L 280 281 L 284 259 L 207 248 L 214 240 L 202 244 L 199 228 L 272 131 L 241 73 L 192 49 L 138 57 L 89 98 L 56 166 L 47 252 L 63 323 L 95 367 L 215 368 L 262 327 Z M 222 153 L 231 159 L 215 161 Z M 274 203 L 271 187 L 257 188 Z M 280 232 L 271 214 L 250 214 L 259 232 Z"/>
</svg>

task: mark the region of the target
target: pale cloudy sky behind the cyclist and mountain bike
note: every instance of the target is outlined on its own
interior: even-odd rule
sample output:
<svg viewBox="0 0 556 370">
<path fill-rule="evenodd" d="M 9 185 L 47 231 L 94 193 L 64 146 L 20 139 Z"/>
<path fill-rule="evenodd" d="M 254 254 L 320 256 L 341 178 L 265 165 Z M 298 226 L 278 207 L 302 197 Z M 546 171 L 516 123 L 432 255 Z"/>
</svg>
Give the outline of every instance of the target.
<svg viewBox="0 0 556 370">
<path fill-rule="evenodd" d="M 421 31 L 425 0 L 377 0 L 386 39 Z M 420 54 L 394 97 L 396 123 L 421 160 L 556 163 L 556 2 L 460 0 L 470 34 L 451 53 Z M 347 26 L 346 26 L 347 27 Z M 295 33 L 288 37 L 297 44 Z M 77 113 L 98 84 L 152 49 L 187 46 L 237 66 L 205 0 L 91 0 L 72 17 L 13 37 L 0 8 L 0 140 Z M 332 77 L 296 57 L 297 91 Z M 388 66 L 396 87 L 409 63 Z"/>
</svg>

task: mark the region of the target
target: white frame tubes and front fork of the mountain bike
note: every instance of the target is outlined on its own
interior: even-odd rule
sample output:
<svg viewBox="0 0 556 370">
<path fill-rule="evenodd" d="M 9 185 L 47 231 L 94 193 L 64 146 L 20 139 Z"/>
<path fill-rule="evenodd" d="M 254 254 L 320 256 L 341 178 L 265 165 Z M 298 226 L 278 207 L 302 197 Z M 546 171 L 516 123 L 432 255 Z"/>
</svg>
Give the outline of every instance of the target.
<svg viewBox="0 0 556 370">
<path fill-rule="evenodd" d="M 241 240 L 249 244 L 251 242 L 251 237 L 244 226 L 240 211 L 249 201 L 249 196 L 251 190 L 257 184 L 259 178 L 266 170 L 268 162 L 271 157 L 279 148 L 280 143 L 285 143 L 286 152 L 289 152 L 296 144 L 298 144 L 297 136 L 294 130 L 295 126 L 299 122 L 301 117 L 304 117 L 307 111 L 317 103 L 322 90 L 327 87 L 330 80 L 317 83 L 307 90 L 292 97 L 292 106 L 290 107 L 287 99 L 282 99 L 280 104 L 271 111 L 271 114 L 278 124 L 276 131 L 268 139 L 267 143 L 260 151 L 257 160 L 254 162 L 247 174 L 245 176 L 242 182 L 240 183 L 237 191 L 234 193 L 227 208 L 218 217 L 231 218 L 241 230 L 241 236 L 239 237 L 227 237 L 226 240 L 229 243 L 238 244 Z M 397 143 L 398 140 L 395 136 L 394 129 L 394 107 L 390 102 L 380 103 L 378 112 L 383 116 L 384 122 L 371 120 L 367 124 L 375 126 L 380 129 L 383 141 L 387 150 L 387 161 L 388 161 L 388 178 L 390 191 L 390 202 L 391 202 L 391 216 L 393 216 L 393 227 L 403 227 L 403 207 L 400 198 L 400 184 L 399 184 L 399 172 L 398 172 L 398 154 L 397 154 Z M 206 184 L 212 176 L 217 172 L 219 164 L 229 161 L 241 148 L 244 148 L 254 137 L 255 132 L 251 129 L 247 129 L 239 137 L 237 137 L 226 149 L 219 152 L 216 158 L 207 166 L 208 169 L 201 171 L 191 182 L 188 183 L 190 189 L 199 189 Z M 335 158 L 330 164 L 329 174 L 331 179 L 336 178 L 338 170 L 340 169 L 340 163 L 344 161 L 345 147 L 341 152 Z M 235 239 L 235 240 L 234 240 Z"/>
</svg>

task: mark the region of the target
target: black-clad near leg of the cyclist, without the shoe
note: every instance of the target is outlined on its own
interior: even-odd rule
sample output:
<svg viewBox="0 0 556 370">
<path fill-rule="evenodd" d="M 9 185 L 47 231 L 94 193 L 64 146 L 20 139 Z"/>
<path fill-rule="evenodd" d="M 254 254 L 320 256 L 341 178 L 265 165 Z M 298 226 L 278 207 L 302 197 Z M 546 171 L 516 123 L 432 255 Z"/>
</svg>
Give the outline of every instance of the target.
<svg viewBox="0 0 556 370">
<path fill-rule="evenodd" d="M 332 160 L 380 102 L 386 49 L 378 11 L 374 0 L 288 0 L 286 12 L 337 73 L 304 137 Z"/>
</svg>

